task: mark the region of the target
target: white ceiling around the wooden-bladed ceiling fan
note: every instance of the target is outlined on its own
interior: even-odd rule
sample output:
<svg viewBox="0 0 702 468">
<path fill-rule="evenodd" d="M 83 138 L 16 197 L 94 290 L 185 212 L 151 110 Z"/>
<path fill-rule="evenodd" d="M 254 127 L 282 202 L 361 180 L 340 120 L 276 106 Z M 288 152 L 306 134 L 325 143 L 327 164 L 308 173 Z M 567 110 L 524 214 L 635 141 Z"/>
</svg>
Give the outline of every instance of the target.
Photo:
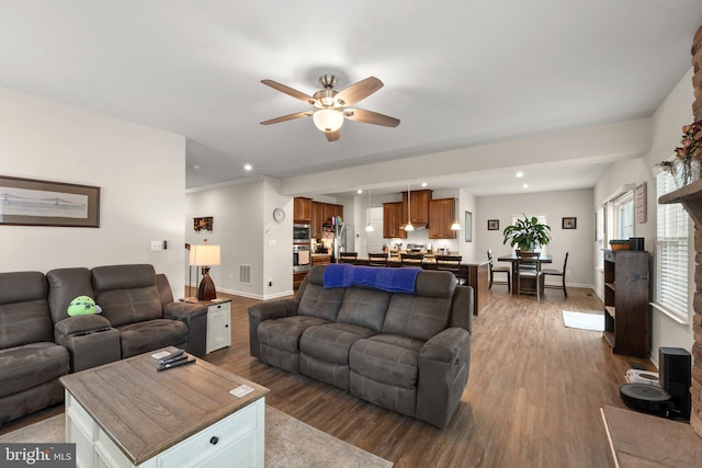
<svg viewBox="0 0 702 468">
<path fill-rule="evenodd" d="M 649 116 L 690 68 L 702 24 L 700 0 L 0 7 L 0 85 L 184 135 L 188 189 Z M 310 118 L 259 124 L 308 109 L 261 79 L 312 94 L 324 73 L 338 77 L 337 89 L 380 78 L 385 87 L 358 107 L 400 125 L 347 121 L 328 142 Z M 602 161 L 543 168 L 541 186 L 592 186 L 605 170 Z M 476 195 L 508 193 L 503 175 L 460 183 Z"/>
</svg>

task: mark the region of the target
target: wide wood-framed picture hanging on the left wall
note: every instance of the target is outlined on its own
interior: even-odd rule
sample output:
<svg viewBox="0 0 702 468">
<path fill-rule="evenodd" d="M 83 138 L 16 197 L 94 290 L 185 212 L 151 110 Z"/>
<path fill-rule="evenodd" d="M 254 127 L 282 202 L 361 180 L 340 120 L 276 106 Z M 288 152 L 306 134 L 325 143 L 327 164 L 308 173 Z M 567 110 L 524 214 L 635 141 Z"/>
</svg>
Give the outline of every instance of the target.
<svg viewBox="0 0 702 468">
<path fill-rule="evenodd" d="M 0 225 L 100 227 L 100 187 L 0 175 Z"/>
</svg>

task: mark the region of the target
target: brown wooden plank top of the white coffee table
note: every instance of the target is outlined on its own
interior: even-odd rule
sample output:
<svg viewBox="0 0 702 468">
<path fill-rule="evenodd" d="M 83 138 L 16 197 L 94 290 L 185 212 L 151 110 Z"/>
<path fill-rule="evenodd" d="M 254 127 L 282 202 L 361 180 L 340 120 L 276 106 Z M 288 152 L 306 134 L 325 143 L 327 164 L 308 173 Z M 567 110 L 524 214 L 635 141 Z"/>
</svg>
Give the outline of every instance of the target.
<svg viewBox="0 0 702 468">
<path fill-rule="evenodd" d="M 160 351 L 178 349 L 169 346 L 59 379 L 134 465 L 270 391 L 201 358 L 157 372 L 158 362 L 151 355 Z M 229 393 L 240 385 L 254 391 L 242 398 Z"/>
</svg>

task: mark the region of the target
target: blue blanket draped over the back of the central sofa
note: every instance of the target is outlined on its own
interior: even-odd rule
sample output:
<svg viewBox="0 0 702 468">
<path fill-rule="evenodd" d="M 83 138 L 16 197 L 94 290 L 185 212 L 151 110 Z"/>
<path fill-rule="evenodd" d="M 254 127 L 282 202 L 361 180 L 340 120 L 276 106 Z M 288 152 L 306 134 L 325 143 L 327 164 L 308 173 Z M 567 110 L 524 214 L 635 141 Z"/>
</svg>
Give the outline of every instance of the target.
<svg viewBox="0 0 702 468">
<path fill-rule="evenodd" d="M 348 263 L 327 265 L 324 274 L 324 287 L 349 287 L 362 285 L 389 293 L 415 293 L 415 281 L 420 267 L 386 269 L 378 266 L 356 266 Z"/>
</svg>

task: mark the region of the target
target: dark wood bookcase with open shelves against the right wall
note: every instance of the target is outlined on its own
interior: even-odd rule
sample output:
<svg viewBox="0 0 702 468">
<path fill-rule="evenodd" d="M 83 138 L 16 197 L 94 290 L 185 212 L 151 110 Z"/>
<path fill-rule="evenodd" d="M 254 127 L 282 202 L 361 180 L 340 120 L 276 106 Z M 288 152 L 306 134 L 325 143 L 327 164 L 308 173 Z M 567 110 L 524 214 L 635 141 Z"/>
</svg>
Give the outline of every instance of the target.
<svg viewBox="0 0 702 468">
<path fill-rule="evenodd" d="M 648 357 L 648 252 L 604 251 L 604 338 L 615 354 Z"/>
</svg>

